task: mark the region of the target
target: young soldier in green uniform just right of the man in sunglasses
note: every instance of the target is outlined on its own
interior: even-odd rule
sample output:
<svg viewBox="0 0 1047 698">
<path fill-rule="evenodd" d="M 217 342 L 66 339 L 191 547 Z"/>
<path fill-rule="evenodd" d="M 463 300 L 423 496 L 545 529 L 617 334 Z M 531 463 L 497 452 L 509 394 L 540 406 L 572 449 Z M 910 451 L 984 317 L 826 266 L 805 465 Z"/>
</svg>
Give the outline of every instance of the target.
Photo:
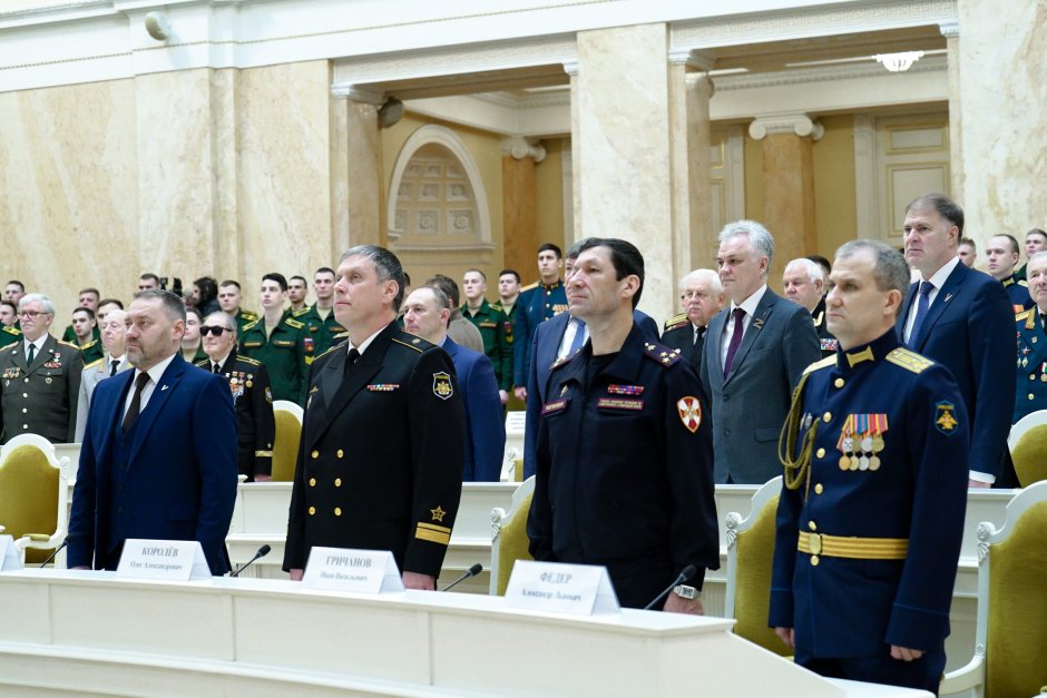
<svg viewBox="0 0 1047 698">
<path fill-rule="evenodd" d="M 262 277 L 262 317 L 244 326 L 241 353 L 265 364 L 274 400 L 305 405 L 305 385 L 313 354 L 305 325 L 284 317 L 287 279 L 272 272 Z M 307 361 L 310 360 L 310 361 Z"/>
</svg>

